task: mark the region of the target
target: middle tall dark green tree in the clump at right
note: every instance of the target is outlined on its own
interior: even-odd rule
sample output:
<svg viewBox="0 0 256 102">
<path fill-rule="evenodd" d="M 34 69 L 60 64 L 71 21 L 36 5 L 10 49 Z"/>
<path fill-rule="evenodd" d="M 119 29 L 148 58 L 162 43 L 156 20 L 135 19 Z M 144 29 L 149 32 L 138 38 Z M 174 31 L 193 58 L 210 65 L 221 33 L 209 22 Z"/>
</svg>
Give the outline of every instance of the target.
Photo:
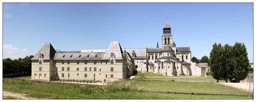
<svg viewBox="0 0 256 102">
<path fill-rule="evenodd" d="M 222 62 L 222 68 L 221 71 L 224 72 L 222 74 L 222 79 L 228 82 L 228 79 L 230 82 L 232 82 L 233 79 L 233 52 L 232 52 L 232 46 L 229 44 L 225 44 L 223 47 L 223 52 L 221 54 L 221 62 Z"/>
</svg>

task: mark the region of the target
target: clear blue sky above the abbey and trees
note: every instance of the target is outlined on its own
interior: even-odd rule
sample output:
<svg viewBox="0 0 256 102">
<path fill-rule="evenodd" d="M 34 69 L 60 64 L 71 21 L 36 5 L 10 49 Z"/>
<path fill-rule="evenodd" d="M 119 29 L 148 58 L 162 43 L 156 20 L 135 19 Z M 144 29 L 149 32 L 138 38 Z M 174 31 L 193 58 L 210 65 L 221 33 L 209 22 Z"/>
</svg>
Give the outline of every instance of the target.
<svg viewBox="0 0 256 102">
<path fill-rule="evenodd" d="M 253 62 L 252 3 L 3 3 L 3 59 L 35 55 L 47 42 L 61 51 L 162 45 L 166 15 L 177 47 L 210 56 L 212 45 L 247 47 Z"/>
</svg>

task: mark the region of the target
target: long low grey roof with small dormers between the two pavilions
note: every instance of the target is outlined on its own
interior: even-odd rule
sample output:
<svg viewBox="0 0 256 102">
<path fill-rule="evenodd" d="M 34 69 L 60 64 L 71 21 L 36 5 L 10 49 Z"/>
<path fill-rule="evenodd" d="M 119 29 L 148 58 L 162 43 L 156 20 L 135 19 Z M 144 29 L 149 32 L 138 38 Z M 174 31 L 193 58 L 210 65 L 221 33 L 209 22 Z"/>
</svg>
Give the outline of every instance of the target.
<svg viewBox="0 0 256 102">
<path fill-rule="evenodd" d="M 102 60 L 104 54 L 105 54 L 104 52 L 101 52 L 101 53 L 62 52 L 62 53 L 56 53 L 54 56 L 54 60 Z"/>
</svg>

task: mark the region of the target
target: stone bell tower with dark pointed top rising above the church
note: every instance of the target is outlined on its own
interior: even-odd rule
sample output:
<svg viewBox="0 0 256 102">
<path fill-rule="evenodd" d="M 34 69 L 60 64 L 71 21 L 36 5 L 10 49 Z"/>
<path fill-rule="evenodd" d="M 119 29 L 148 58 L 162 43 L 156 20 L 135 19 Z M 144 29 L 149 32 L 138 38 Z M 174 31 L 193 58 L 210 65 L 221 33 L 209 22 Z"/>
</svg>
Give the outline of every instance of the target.
<svg viewBox="0 0 256 102">
<path fill-rule="evenodd" d="M 162 50 L 169 45 L 172 47 L 172 35 L 171 35 L 171 27 L 166 19 L 165 26 L 163 28 L 163 36 L 162 36 Z"/>
</svg>

